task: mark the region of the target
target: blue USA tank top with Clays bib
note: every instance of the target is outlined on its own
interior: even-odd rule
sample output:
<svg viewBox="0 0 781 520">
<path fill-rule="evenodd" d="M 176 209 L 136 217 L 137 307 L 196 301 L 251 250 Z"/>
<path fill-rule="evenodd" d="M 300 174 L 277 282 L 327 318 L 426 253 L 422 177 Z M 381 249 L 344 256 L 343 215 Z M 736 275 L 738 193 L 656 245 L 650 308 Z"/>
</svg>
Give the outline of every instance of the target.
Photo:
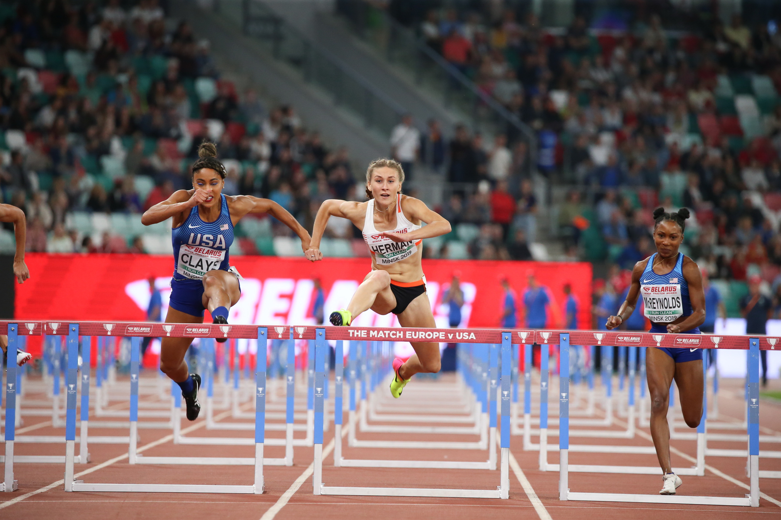
<svg viewBox="0 0 781 520">
<path fill-rule="evenodd" d="M 201 280 L 213 269 L 227 271 L 230 267 L 229 250 L 234 243 L 234 223 L 225 195 L 216 221 L 205 222 L 198 214 L 198 206 L 191 208 L 187 220 L 173 228 L 173 279 Z"/>
</svg>

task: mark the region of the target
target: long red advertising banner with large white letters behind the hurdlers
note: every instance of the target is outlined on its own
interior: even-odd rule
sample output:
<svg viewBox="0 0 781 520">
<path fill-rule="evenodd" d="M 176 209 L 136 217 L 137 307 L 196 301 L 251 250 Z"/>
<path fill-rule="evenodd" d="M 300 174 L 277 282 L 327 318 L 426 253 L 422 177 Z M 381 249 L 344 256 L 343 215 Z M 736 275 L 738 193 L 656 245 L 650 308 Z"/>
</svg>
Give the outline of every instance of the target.
<svg viewBox="0 0 781 520">
<path fill-rule="evenodd" d="M 155 278 L 155 287 L 162 294 L 165 317 L 172 256 L 28 253 L 26 260 L 30 279 L 16 286 L 16 317 L 62 322 L 145 321 L 150 277 Z M 323 287 L 327 317 L 332 310 L 348 305 L 355 288 L 371 269 L 369 260 L 364 258 L 332 258 L 314 264 L 304 258 L 278 256 L 234 256 L 230 260 L 244 279 L 241 300 L 231 308 L 229 321 L 245 325 L 315 325 L 313 280 L 318 278 Z M 464 294 L 460 327 L 500 327 L 505 302 L 502 277 L 508 278 L 515 293 L 518 327 L 523 327 L 522 300 L 529 274 L 546 288 L 551 301 L 547 327 L 564 327 L 566 284 L 571 285 L 577 302 L 578 327 L 591 327 L 592 274 L 588 263 L 423 260 L 423 271 L 439 328 L 449 327 L 448 305 L 442 303 L 442 295 L 456 271 L 460 271 Z M 210 321 L 209 313 L 205 320 Z M 398 327 L 398 320 L 393 314 L 379 316 L 369 311 L 359 316 L 354 325 Z M 158 333 L 152 335 L 155 334 Z M 134 335 L 147 335 L 147 331 L 138 330 Z"/>
</svg>

